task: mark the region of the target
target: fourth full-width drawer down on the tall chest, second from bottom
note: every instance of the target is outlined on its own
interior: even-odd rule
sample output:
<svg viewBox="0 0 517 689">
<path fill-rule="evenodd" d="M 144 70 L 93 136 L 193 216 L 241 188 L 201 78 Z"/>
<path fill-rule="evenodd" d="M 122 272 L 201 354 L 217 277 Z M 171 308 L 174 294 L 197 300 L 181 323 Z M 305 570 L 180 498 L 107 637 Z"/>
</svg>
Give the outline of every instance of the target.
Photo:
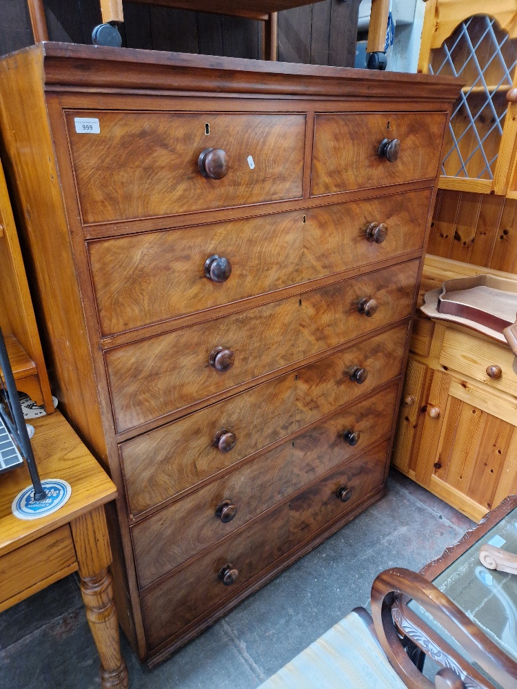
<svg viewBox="0 0 517 689">
<path fill-rule="evenodd" d="M 133 526 L 141 588 L 390 433 L 397 390 L 392 385 Z M 346 431 L 358 434 L 354 444 L 344 440 Z M 194 459 L 183 457 L 185 464 Z M 230 514 L 220 517 L 225 503 Z"/>
</svg>

